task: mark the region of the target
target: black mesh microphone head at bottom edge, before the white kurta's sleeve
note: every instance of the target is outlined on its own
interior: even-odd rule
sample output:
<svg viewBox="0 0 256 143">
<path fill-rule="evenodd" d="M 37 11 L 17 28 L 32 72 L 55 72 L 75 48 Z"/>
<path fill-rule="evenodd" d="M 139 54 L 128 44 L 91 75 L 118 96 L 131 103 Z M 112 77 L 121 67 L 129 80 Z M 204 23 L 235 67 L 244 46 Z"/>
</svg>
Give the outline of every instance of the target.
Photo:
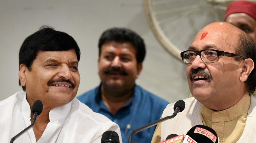
<svg viewBox="0 0 256 143">
<path fill-rule="evenodd" d="M 106 131 L 102 134 L 101 143 L 119 143 L 119 136 L 115 131 Z"/>
</svg>

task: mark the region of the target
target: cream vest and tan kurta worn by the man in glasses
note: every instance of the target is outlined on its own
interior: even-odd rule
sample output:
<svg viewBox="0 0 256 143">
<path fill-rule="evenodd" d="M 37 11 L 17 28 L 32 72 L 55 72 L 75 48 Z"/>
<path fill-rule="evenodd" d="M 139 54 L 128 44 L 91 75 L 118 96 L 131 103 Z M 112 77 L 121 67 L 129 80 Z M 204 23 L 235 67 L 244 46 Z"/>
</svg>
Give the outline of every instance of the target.
<svg viewBox="0 0 256 143">
<path fill-rule="evenodd" d="M 165 140 L 171 133 L 176 133 L 178 135 L 186 134 L 190 128 L 197 124 L 204 124 L 214 129 L 219 138 L 222 139 L 220 142 L 236 142 L 236 140 L 240 143 L 256 142 L 256 97 L 245 94 L 241 101 L 236 105 L 230 109 L 220 112 L 212 110 L 209 111 L 209 109 L 206 109 L 204 105 L 198 102 L 194 97 L 184 99 L 184 101 L 186 103 L 186 107 L 189 108 L 185 108 L 184 111 L 178 113 L 178 115 L 173 119 L 164 121 L 162 124 L 157 125 L 152 143 L 159 143 L 160 140 Z M 248 110 L 249 105 L 250 107 Z M 166 107 L 163 112 L 163 117 L 171 115 L 173 112 L 173 106 L 174 104 L 169 104 Z M 214 115 L 212 112 L 217 114 Z M 209 119 L 210 117 L 208 117 L 208 119 L 204 119 L 202 117 L 203 114 L 211 115 L 212 119 Z M 230 116 L 223 116 L 223 114 Z M 208 123 L 205 124 L 205 122 Z M 215 126 L 212 126 L 212 124 L 215 124 Z M 234 132 L 234 130 L 236 130 L 236 132 Z M 162 134 L 162 132 L 165 132 L 165 134 Z"/>
</svg>

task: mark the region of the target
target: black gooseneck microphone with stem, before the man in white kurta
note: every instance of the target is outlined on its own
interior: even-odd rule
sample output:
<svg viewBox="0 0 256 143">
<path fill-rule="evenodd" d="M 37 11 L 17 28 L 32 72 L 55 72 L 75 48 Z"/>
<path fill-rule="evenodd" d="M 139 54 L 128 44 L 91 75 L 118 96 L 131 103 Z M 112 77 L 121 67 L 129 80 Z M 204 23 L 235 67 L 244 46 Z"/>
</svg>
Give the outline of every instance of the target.
<svg viewBox="0 0 256 143">
<path fill-rule="evenodd" d="M 40 100 L 37 100 L 33 106 L 32 106 L 32 113 L 33 113 L 33 122 L 24 130 L 22 130 L 20 133 L 18 133 L 16 136 L 14 136 L 10 143 L 13 143 L 13 141 L 17 138 L 19 138 L 23 133 L 25 133 L 26 131 L 28 131 L 28 129 L 30 129 L 36 122 L 36 117 L 39 116 L 42 113 L 43 110 L 43 103 Z"/>
</svg>

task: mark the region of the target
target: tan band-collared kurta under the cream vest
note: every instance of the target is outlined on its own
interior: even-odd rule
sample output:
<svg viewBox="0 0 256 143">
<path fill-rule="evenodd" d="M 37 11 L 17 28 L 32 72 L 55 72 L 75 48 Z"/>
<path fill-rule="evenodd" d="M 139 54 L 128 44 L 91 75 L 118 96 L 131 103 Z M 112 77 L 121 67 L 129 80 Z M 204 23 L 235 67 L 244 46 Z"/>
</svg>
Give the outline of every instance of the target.
<svg viewBox="0 0 256 143">
<path fill-rule="evenodd" d="M 217 132 L 220 143 L 235 143 L 244 131 L 249 106 L 250 96 L 246 93 L 238 103 L 222 111 L 213 111 L 201 105 L 200 116 L 204 125 Z M 161 124 L 157 125 L 151 143 L 159 143 L 160 138 Z"/>
</svg>

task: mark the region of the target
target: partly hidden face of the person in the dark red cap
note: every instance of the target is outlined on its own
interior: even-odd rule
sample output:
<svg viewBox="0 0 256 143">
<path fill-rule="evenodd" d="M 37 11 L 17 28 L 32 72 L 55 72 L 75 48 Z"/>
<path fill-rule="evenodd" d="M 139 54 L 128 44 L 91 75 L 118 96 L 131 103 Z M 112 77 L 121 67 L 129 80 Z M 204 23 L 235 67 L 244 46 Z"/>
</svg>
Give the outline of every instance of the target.
<svg viewBox="0 0 256 143">
<path fill-rule="evenodd" d="M 256 20 L 250 15 L 245 13 L 233 13 L 228 15 L 225 21 L 249 34 L 254 42 L 256 42 Z"/>
</svg>

